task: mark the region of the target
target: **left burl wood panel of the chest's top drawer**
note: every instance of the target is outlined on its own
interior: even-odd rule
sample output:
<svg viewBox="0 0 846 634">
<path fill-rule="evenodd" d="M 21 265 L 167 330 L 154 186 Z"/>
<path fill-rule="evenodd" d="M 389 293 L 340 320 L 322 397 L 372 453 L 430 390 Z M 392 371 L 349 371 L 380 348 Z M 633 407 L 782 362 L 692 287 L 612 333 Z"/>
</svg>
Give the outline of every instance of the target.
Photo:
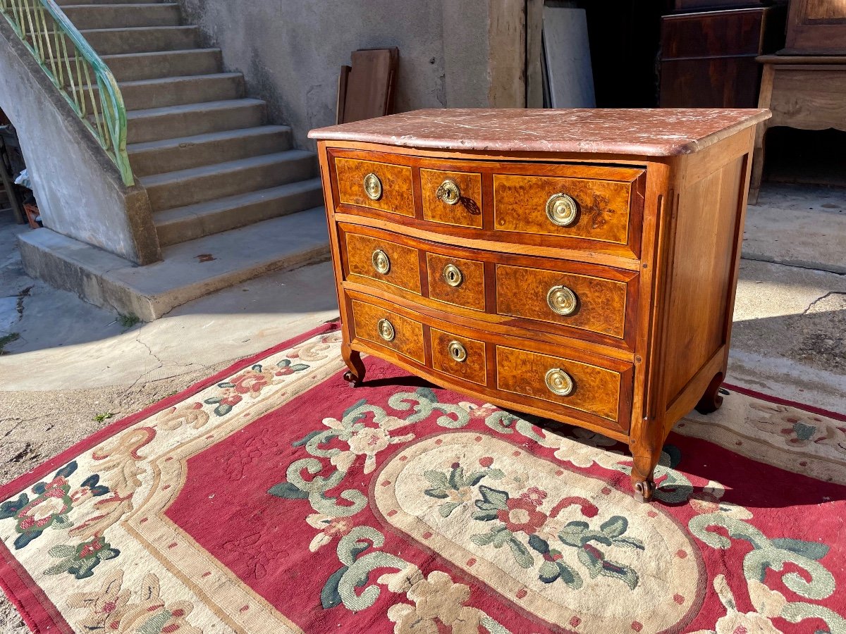
<svg viewBox="0 0 846 634">
<path fill-rule="evenodd" d="M 359 205 L 401 216 L 415 215 L 411 186 L 411 168 L 376 161 L 336 158 L 338 196 L 345 205 Z M 382 181 L 382 198 L 372 200 L 365 194 L 365 176 L 374 173 Z"/>
</svg>

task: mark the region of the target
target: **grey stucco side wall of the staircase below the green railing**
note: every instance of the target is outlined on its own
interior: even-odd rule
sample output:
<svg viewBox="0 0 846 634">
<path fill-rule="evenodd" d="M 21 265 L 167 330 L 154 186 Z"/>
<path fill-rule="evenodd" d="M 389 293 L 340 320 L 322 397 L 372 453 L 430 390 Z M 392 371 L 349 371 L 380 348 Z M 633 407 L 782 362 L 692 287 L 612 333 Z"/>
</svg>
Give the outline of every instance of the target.
<svg viewBox="0 0 846 634">
<path fill-rule="evenodd" d="M 150 203 L 0 19 L 0 108 L 18 132 L 44 226 L 138 264 L 159 260 Z"/>
</svg>

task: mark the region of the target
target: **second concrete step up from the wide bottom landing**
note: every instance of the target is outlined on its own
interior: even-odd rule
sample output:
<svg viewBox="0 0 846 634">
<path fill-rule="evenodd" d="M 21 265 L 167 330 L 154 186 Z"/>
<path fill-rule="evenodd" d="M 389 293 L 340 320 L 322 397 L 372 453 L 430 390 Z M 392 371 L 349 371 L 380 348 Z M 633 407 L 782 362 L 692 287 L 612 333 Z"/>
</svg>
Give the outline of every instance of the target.
<svg viewBox="0 0 846 634">
<path fill-rule="evenodd" d="M 314 154 L 305 150 L 287 150 L 146 176 L 139 180 L 147 191 L 152 210 L 162 211 L 293 183 L 313 178 L 316 174 Z"/>
</svg>

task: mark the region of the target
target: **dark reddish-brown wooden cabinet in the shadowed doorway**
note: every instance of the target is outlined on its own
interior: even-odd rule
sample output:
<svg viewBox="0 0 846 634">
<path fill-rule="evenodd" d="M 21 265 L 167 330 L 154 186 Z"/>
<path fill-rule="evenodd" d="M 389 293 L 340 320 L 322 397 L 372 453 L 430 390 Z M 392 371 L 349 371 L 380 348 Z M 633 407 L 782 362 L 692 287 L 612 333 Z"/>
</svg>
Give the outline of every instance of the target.
<svg viewBox="0 0 846 634">
<path fill-rule="evenodd" d="M 784 19 L 783 7 L 665 16 L 661 107 L 755 107 L 755 57 L 782 46 Z"/>
</svg>

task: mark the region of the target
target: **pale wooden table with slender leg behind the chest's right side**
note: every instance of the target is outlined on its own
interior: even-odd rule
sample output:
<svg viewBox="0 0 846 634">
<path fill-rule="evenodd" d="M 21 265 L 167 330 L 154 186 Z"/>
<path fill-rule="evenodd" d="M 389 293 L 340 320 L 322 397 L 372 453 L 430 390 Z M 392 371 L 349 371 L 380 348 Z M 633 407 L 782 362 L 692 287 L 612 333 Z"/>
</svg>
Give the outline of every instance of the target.
<svg viewBox="0 0 846 634">
<path fill-rule="evenodd" d="M 772 118 L 758 127 L 749 199 L 761 190 L 766 155 L 766 131 L 775 126 L 805 130 L 834 128 L 846 132 L 846 56 L 758 57 L 763 66 L 758 107 Z"/>
</svg>

